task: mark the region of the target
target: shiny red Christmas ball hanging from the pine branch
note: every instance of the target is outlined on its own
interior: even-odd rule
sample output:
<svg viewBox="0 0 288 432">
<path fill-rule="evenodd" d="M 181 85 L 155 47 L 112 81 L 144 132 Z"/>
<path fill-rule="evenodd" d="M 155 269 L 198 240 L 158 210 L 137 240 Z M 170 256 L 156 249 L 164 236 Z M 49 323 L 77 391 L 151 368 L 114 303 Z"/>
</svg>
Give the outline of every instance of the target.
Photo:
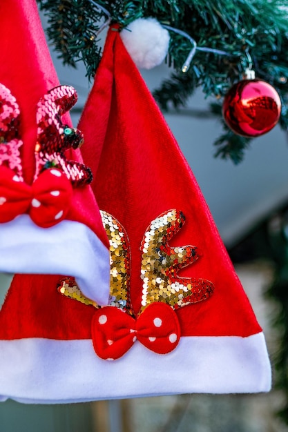
<svg viewBox="0 0 288 432">
<path fill-rule="evenodd" d="M 281 101 L 270 84 L 260 79 L 243 79 L 224 97 L 222 115 L 233 132 L 258 137 L 269 132 L 280 117 Z"/>
</svg>

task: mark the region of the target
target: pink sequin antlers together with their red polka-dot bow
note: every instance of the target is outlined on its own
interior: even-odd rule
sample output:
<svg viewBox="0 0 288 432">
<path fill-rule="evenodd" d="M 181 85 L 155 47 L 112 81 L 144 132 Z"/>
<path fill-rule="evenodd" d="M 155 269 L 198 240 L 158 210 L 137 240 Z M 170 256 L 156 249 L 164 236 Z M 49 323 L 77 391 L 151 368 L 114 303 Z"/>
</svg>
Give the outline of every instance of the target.
<svg viewBox="0 0 288 432">
<path fill-rule="evenodd" d="M 0 223 L 26 213 L 41 228 L 54 226 L 68 214 L 73 199 L 71 183 L 88 182 L 90 170 L 66 161 L 63 154 L 66 148 L 79 146 L 82 139 L 79 131 L 61 124 L 60 116 L 77 99 L 75 90 L 63 87 L 52 89 L 39 102 L 37 175 L 30 185 L 22 175 L 19 106 L 10 90 L 0 84 Z"/>
</svg>

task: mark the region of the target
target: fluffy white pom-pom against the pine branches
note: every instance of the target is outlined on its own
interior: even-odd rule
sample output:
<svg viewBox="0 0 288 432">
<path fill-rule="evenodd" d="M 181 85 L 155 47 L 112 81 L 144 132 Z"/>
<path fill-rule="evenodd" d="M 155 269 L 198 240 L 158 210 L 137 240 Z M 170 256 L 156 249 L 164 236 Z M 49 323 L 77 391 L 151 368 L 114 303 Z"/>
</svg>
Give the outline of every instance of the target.
<svg viewBox="0 0 288 432">
<path fill-rule="evenodd" d="M 167 55 L 169 32 L 155 18 L 135 19 L 120 35 L 138 68 L 154 68 Z"/>
</svg>

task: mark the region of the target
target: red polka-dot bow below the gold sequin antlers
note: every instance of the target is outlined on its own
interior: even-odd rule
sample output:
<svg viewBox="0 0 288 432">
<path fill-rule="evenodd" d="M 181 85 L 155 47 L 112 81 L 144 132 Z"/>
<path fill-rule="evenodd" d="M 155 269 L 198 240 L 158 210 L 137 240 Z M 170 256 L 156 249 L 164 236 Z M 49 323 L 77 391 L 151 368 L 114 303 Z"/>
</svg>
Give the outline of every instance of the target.
<svg viewBox="0 0 288 432">
<path fill-rule="evenodd" d="M 180 324 L 175 311 L 160 302 L 149 304 L 136 320 L 105 306 L 93 315 L 92 339 L 96 354 L 104 360 L 122 357 L 136 340 L 155 353 L 166 354 L 180 340 Z"/>
</svg>

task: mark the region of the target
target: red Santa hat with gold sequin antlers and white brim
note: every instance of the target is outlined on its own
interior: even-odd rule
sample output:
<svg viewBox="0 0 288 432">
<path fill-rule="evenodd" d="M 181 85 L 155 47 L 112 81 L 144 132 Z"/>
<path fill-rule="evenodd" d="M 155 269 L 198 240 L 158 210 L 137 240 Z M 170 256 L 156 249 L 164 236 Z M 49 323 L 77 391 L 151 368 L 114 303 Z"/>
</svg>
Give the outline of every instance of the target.
<svg viewBox="0 0 288 432">
<path fill-rule="evenodd" d="M 71 277 L 15 276 L 0 313 L 2 398 L 269 391 L 262 329 L 117 26 L 79 128 L 110 242 L 109 306 Z"/>
</svg>

